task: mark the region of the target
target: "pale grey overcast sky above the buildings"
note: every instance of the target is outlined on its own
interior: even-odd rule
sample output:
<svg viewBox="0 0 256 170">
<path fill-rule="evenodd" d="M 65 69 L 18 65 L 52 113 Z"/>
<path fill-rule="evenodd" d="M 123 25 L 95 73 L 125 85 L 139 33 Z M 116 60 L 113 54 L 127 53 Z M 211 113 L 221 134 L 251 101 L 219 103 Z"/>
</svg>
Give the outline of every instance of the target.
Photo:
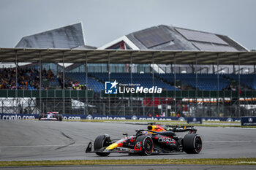
<svg viewBox="0 0 256 170">
<path fill-rule="evenodd" d="M 256 49 L 255 0 L 0 0 L 0 47 L 83 22 L 86 45 L 161 24 L 232 37 Z"/>
</svg>

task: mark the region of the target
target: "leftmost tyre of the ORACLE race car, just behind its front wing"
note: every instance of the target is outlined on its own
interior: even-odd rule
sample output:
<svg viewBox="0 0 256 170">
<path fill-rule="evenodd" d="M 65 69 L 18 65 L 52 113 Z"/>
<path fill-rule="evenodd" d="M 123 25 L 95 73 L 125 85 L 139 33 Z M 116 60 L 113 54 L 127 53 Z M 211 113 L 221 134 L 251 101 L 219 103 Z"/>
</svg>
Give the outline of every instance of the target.
<svg viewBox="0 0 256 170">
<path fill-rule="evenodd" d="M 94 150 L 99 150 L 102 147 L 108 147 L 108 145 L 111 143 L 110 136 L 108 134 L 102 134 L 97 136 L 97 138 L 94 140 Z M 110 155 L 110 152 L 96 152 L 99 156 L 108 156 Z"/>
</svg>

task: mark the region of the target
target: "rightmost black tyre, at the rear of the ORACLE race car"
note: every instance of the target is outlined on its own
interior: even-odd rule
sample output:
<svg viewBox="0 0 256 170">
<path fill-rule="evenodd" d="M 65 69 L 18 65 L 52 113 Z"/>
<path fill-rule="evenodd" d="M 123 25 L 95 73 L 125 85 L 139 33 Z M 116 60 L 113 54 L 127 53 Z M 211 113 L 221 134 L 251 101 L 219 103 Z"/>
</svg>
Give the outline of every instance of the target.
<svg viewBox="0 0 256 170">
<path fill-rule="evenodd" d="M 202 139 L 198 134 L 186 134 L 183 139 L 183 150 L 187 153 L 199 153 L 202 150 Z"/>
</svg>

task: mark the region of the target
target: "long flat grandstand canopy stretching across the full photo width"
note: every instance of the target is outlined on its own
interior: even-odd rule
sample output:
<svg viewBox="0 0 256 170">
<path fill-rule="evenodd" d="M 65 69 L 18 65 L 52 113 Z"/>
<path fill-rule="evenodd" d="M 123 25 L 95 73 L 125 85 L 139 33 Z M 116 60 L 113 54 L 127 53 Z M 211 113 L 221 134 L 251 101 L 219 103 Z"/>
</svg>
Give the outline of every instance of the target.
<svg viewBox="0 0 256 170">
<path fill-rule="evenodd" d="M 17 52 L 18 62 L 39 62 L 39 53 L 41 53 L 42 63 L 130 63 L 132 54 L 132 63 L 175 63 L 176 64 L 256 64 L 256 52 L 222 52 L 222 51 L 181 51 L 181 50 L 77 50 L 77 49 L 42 49 L 42 48 L 0 48 L 0 62 L 15 62 L 15 53 Z M 197 56 L 197 57 L 196 57 Z M 239 57 L 238 57 L 239 56 Z"/>
</svg>

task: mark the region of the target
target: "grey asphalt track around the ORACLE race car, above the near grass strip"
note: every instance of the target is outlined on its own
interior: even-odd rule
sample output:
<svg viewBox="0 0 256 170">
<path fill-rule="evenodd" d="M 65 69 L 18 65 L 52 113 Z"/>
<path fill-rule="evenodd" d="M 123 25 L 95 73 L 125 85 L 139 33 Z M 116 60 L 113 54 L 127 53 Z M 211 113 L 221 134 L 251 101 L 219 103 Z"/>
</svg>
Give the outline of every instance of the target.
<svg viewBox="0 0 256 170">
<path fill-rule="evenodd" d="M 87 144 L 99 134 L 109 134 L 111 139 L 118 139 L 124 132 L 132 135 L 135 129 L 141 128 L 146 129 L 146 125 L 0 120 L 0 161 L 256 157 L 256 129 L 253 128 L 197 127 L 197 133 L 203 139 L 203 150 L 195 155 L 111 153 L 108 157 L 99 157 L 84 152 Z"/>
</svg>

